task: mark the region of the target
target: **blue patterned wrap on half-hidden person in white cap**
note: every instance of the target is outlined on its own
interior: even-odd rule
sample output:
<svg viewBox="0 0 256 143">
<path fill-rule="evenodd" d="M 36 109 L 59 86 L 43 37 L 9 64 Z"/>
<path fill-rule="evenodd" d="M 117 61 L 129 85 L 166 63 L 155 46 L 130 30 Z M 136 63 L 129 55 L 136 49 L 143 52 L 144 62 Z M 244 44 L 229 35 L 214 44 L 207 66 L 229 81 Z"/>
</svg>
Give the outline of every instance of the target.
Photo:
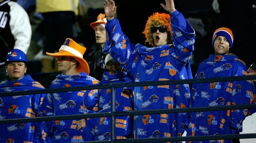
<svg viewBox="0 0 256 143">
<path fill-rule="evenodd" d="M 103 73 L 100 84 L 123 83 L 126 79 L 126 72 L 117 71 L 115 74 L 109 71 Z M 111 89 L 99 89 L 99 113 L 111 111 Z M 115 111 L 133 110 L 133 91 L 127 88 L 115 89 Z M 111 136 L 111 118 L 97 118 L 94 140 L 110 140 Z M 115 138 L 130 138 L 132 133 L 132 116 L 115 117 Z"/>
</svg>

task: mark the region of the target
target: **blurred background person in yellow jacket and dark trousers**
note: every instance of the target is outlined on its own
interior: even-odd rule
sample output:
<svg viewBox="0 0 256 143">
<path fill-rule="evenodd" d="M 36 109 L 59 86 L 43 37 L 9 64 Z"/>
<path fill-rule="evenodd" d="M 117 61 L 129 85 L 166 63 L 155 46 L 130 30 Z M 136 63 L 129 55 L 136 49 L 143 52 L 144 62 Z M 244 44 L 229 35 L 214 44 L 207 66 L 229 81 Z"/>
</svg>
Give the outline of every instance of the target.
<svg viewBox="0 0 256 143">
<path fill-rule="evenodd" d="M 57 71 L 56 61 L 46 52 L 57 52 L 67 38 L 73 38 L 73 26 L 79 0 L 36 0 L 36 12 L 43 16 L 44 42 L 41 72 Z"/>
</svg>

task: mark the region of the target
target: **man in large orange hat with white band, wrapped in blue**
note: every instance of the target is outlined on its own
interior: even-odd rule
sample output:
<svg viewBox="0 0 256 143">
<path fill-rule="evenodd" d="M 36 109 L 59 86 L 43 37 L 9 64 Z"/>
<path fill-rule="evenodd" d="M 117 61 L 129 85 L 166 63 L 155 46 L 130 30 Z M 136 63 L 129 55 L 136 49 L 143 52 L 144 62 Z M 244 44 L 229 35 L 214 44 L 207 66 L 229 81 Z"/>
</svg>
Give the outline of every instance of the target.
<svg viewBox="0 0 256 143">
<path fill-rule="evenodd" d="M 67 38 L 57 53 L 46 52 L 57 59 L 58 71 L 50 88 L 74 87 L 98 84 L 99 81 L 89 75 L 89 65 L 83 58 L 86 48 Z M 47 94 L 43 100 L 43 116 L 62 116 L 87 114 L 98 111 L 98 90 L 55 92 Z M 91 119 L 73 119 L 48 122 L 49 134 L 53 143 L 92 141 Z"/>
</svg>

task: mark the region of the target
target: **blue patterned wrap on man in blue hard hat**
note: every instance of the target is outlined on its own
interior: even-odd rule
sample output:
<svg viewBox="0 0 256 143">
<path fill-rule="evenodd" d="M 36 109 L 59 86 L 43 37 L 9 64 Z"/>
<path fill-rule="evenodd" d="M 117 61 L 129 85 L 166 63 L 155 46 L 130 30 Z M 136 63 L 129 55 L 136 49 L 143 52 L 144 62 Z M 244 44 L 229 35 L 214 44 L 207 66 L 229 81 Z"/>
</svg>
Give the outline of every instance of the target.
<svg viewBox="0 0 256 143">
<path fill-rule="evenodd" d="M 29 75 L 16 81 L 6 80 L 0 84 L 0 92 L 44 89 Z M 46 94 L 0 97 L 0 120 L 37 117 L 38 109 Z M 19 136 L 17 136 L 19 135 Z M 44 143 L 47 141 L 44 122 L 0 124 L 2 143 Z"/>
</svg>

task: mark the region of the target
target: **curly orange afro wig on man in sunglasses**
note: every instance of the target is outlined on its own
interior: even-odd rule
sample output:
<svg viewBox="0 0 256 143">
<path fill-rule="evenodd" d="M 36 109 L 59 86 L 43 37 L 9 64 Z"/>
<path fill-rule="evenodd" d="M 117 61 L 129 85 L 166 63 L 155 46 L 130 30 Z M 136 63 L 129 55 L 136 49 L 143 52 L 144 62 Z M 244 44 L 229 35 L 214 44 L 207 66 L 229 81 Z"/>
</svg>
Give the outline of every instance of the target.
<svg viewBox="0 0 256 143">
<path fill-rule="evenodd" d="M 153 35 L 150 30 L 151 27 L 153 26 L 164 26 L 167 27 L 167 44 L 172 44 L 172 39 L 171 39 L 171 19 L 170 15 L 166 13 L 153 13 L 147 20 L 147 23 L 145 25 L 145 29 L 142 32 L 145 34 L 147 42 L 149 42 L 150 45 L 155 46 L 154 41 L 153 41 Z"/>
</svg>

